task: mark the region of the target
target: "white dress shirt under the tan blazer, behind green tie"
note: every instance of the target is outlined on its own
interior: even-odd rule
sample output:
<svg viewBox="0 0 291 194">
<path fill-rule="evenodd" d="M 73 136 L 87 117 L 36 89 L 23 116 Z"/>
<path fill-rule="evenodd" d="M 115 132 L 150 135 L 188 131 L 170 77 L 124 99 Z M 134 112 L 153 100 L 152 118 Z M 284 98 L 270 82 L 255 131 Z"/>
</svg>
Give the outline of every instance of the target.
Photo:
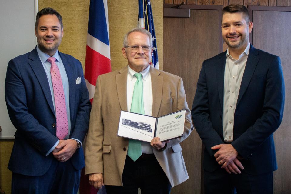
<svg viewBox="0 0 291 194">
<path fill-rule="evenodd" d="M 128 65 L 128 73 L 127 73 L 127 111 L 130 111 L 132 95 L 135 82 L 137 78 L 133 76 L 135 73 Z M 152 116 L 152 79 L 149 66 L 140 72 L 142 74 L 142 83 L 143 83 L 143 106 L 145 109 L 145 115 Z M 150 143 L 141 142 L 142 153 L 143 154 L 152 154 L 152 146 Z"/>
</svg>

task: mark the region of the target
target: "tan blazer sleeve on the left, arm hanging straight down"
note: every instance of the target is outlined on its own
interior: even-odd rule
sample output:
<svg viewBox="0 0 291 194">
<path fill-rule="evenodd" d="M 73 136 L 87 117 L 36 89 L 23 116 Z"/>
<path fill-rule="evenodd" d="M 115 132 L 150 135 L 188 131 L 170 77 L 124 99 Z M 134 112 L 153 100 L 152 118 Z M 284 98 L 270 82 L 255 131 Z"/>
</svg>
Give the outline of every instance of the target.
<svg viewBox="0 0 291 194">
<path fill-rule="evenodd" d="M 85 145 L 85 174 L 103 173 L 102 84 L 98 76 Z"/>
</svg>

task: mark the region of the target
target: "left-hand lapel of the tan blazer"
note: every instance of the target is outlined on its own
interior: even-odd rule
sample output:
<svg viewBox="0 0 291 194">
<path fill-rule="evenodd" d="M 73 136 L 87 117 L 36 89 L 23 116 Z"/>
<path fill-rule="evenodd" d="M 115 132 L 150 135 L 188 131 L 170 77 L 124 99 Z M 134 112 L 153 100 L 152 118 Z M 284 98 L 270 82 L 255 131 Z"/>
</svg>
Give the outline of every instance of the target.
<svg viewBox="0 0 291 194">
<path fill-rule="evenodd" d="M 127 66 L 119 70 L 115 75 L 117 95 L 121 110 L 127 111 Z"/>
</svg>

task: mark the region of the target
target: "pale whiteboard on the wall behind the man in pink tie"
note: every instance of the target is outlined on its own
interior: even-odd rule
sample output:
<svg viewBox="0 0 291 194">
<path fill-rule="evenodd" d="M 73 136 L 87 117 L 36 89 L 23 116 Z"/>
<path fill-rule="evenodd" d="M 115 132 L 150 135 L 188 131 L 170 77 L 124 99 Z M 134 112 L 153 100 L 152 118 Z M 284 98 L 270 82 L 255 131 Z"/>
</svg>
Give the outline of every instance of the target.
<svg viewBox="0 0 291 194">
<path fill-rule="evenodd" d="M 34 35 L 37 0 L 0 0 L 0 139 L 14 139 L 5 103 L 4 84 L 10 59 L 25 54 L 36 45 Z"/>
</svg>

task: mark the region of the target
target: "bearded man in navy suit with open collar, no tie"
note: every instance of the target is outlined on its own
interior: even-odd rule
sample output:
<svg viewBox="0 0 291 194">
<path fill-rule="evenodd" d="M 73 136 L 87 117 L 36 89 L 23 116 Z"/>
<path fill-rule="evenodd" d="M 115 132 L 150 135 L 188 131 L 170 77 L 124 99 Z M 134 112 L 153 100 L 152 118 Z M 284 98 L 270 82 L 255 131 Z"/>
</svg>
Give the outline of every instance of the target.
<svg viewBox="0 0 291 194">
<path fill-rule="evenodd" d="M 228 49 L 203 62 L 192 106 L 205 145 L 205 193 L 273 193 L 273 132 L 285 96 L 281 61 L 250 45 L 245 6 L 226 6 L 222 14 Z"/>
</svg>

